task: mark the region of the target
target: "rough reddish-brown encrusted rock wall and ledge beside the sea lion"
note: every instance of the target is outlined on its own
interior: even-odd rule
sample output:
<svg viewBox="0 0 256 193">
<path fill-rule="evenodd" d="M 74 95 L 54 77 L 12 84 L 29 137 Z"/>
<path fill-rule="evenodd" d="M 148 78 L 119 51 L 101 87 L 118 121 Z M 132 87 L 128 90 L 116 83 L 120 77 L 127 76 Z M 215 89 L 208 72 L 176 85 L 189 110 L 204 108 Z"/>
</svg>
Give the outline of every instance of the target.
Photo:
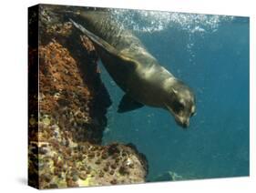
<svg viewBox="0 0 256 193">
<path fill-rule="evenodd" d="M 100 146 L 111 101 L 93 45 L 53 15 L 52 7 L 41 5 L 39 13 L 39 93 L 29 86 L 29 184 L 67 188 L 144 182 L 147 159 L 136 147 Z M 30 46 L 30 77 L 36 76 L 36 53 L 37 47 Z M 38 119 L 32 102 L 37 96 Z"/>
</svg>

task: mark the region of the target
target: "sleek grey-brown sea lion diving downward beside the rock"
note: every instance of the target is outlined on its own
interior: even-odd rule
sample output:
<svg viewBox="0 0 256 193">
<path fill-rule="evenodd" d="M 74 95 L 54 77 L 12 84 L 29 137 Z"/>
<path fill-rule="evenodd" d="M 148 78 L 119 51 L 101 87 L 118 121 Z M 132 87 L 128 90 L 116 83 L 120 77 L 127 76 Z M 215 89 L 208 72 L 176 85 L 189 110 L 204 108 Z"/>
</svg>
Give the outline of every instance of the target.
<svg viewBox="0 0 256 193">
<path fill-rule="evenodd" d="M 93 42 L 109 75 L 126 93 L 118 112 L 144 105 L 161 107 L 179 126 L 189 127 L 189 117 L 196 110 L 192 90 L 160 66 L 137 36 L 118 24 L 108 11 L 82 11 L 69 18 Z"/>
</svg>

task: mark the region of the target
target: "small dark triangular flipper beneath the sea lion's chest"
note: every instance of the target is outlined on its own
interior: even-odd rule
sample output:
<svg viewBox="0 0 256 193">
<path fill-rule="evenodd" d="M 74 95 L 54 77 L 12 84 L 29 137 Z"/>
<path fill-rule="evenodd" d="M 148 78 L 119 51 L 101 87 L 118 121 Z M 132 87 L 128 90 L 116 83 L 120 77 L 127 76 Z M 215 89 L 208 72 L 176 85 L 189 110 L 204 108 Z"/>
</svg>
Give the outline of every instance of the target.
<svg viewBox="0 0 256 193">
<path fill-rule="evenodd" d="M 137 101 L 135 101 L 134 99 L 132 99 L 130 96 L 126 94 L 122 97 L 119 103 L 118 113 L 125 113 L 143 106 L 144 106 L 143 104 L 138 103 Z"/>
</svg>

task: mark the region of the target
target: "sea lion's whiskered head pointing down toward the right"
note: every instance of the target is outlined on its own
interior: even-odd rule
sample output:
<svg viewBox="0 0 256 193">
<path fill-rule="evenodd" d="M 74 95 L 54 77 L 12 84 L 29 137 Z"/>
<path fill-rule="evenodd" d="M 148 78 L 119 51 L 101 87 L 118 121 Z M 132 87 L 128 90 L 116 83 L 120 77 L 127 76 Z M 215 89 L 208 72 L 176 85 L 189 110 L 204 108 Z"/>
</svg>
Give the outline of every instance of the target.
<svg viewBox="0 0 256 193">
<path fill-rule="evenodd" d="M 175 117 L 179 126 L 189 127 L 189 118 L 196 112 L 196 101 L 192 90 L 178 79 L 169 81 L 165 88 L 164 108 Z"/>
</svg>

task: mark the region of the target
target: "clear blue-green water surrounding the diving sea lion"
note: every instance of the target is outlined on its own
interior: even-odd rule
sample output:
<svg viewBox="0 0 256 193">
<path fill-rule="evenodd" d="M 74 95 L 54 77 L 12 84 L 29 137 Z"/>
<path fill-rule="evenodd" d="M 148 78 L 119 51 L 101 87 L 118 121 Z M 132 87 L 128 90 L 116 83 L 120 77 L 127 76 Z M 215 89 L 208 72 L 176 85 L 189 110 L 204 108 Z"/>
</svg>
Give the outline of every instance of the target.
<svg viewBox="0 0 256 193">
<path fill-rule="evenodd" d="M 103 144 L 133 143 L 148 158 L 148 180 L 249 175 L 249 18 L 177 13 L 116 13 L 148 51 L 197 98 L 197 115 L 181 129 L 165 110 L 118 114 L 123 92 L 101 76 L 113 105 Z M 145 22 L 146 21 L 146 22 Z"/>
</svg>

